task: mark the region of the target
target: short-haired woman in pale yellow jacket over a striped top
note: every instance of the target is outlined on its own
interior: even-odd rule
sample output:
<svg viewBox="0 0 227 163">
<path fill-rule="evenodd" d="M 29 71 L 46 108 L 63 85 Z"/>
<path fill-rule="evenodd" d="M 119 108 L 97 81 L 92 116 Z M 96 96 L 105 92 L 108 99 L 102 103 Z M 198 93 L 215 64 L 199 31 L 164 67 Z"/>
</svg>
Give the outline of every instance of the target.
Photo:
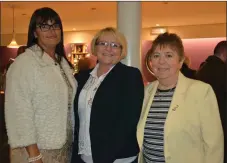
<svg viewBox="0 0 227 163">
<path fill-rule="evenodd" d="M 139 163 L 223 163 L 223 131 L 210 85 L 179 72 L 184 48 L 176 34 L 153 42 L 157 80 L 147 86 L 138 124 Z"/>
</svg>

